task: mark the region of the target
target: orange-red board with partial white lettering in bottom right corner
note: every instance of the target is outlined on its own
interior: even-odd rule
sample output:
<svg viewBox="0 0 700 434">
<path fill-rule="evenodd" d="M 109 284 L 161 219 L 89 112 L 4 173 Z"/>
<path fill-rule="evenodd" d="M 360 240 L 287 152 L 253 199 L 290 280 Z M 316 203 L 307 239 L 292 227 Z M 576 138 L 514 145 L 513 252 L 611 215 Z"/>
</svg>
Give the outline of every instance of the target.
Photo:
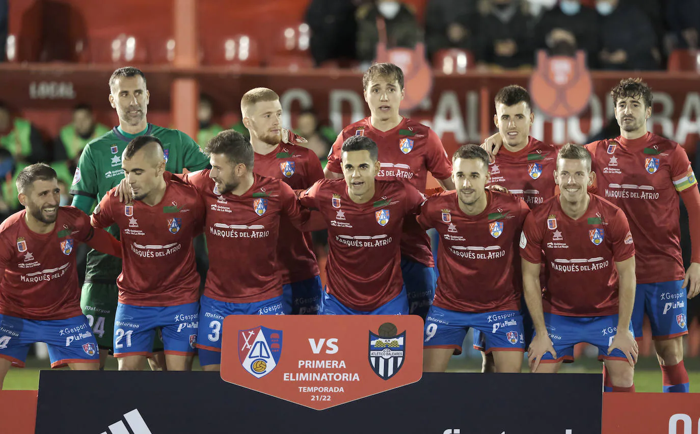
<svg viewBox="0 0 700 434">
<path fill-rule="evenodd" d="M 700 433 L 700 393 L 603 393 L 603 434 Z"/>
</svg>

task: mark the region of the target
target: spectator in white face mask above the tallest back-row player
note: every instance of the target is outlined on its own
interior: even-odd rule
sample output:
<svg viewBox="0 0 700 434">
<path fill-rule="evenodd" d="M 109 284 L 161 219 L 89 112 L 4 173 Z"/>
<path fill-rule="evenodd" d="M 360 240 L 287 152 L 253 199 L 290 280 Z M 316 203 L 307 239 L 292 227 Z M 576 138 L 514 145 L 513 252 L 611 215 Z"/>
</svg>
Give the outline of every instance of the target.
<svg viewBox="0 0 700 434">
<path fill-rule="evenodd" d="M 360 6 L 356 19 L 357 59 L 363 62 L 371 62 L 377 55 L 379 21 L 383 21 L 386 28 L 387 48 L 414 48 L 423 38 L 416 15 L 400 1 L 377 0 Z"/>
</svg>

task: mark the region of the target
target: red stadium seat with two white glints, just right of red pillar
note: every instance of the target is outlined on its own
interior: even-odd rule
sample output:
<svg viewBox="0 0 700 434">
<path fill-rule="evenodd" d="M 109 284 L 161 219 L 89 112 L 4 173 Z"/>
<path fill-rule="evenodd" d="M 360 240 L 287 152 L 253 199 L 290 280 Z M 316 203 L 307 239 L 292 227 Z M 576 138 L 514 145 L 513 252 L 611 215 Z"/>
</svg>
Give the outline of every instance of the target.
<svg viewBox="0 0 700 434">
<path fill-rule="evenodd" d="M 259 66 L 260 52 L 255 38 L 246 34 L 225 36 L 202 43 L 202 63 L 208 65 Z"/>
</svg>

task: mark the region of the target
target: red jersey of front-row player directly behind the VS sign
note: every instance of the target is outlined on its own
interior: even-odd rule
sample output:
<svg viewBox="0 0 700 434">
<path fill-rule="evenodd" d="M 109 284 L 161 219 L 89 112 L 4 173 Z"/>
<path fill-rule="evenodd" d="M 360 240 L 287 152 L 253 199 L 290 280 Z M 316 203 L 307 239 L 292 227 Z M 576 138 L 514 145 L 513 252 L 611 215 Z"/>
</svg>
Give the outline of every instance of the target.
<svg viewBox="0 0 700 434">
<path fill-rule="evenodd" d="M 377 309 L 401 293 L 402 225 L 420 209 L 418 190 L 374 181 L 374 197 L 356 204 L 344 179 L 323 179 L 301 193 L 300 201 L 321 211 L 328 225 L 328 293 L 359 311 Z"/>
</svg>

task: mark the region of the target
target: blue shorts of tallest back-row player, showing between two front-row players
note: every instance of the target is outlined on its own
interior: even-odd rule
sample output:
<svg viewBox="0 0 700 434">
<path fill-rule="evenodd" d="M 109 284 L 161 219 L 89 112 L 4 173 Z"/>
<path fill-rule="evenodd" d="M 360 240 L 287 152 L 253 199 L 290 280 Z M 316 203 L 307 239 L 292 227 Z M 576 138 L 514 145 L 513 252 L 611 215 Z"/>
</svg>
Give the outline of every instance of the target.
<svg viewBox="0 0 700 434">
<path fill-rule="evenodd" d="M 408 313 L 426 318 L 435 298 L 435 268 L 402 257 L 401 275 L 408 297 Z"/>
</svg>

